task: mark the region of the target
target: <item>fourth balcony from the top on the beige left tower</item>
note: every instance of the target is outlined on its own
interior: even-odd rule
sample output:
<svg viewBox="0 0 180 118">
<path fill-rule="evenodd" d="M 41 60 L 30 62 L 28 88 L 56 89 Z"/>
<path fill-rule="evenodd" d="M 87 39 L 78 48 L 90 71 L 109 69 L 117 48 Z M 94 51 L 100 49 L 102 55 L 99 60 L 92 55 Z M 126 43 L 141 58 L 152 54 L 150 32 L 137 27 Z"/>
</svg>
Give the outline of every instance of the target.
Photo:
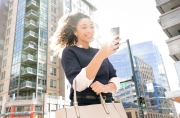
<svg viewBox="0 0 180 118">
<path fill-rule="evenodd" d="M 33 40 L 33 41 L 35 41 L 36 39 L 38 39 L 38 34 L 30 30 L 30 31 L 28 31 L 28 32 L 26 32 L 24 34 L 24 38 L 26 40 Z"/>
</svg>

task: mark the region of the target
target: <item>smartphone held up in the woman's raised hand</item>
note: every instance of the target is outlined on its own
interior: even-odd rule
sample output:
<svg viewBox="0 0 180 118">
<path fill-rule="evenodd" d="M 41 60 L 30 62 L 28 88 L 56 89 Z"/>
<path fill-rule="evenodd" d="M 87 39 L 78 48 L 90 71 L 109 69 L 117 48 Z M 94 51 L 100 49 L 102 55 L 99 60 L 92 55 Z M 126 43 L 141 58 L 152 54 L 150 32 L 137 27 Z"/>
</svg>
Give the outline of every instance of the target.
<svg viewBox="0 0 180 118">
<path fill-rule="evenodd" d="M 113 28 L 111 28 L 110 33 L 111 33 L 112 39 L 117 40 L 117 39 L 119 39 L 120 28 L 119 27 L 113 27 Z M 119 43 L 117 43 L 117 44 L 119 44 Z M 115 45 L 117 45 L 117 44 L 115 44 Z M 117 50 L 117 49 L 119 49 L 119 47 L 116 48 L 115 50 Z"/>
</svg>

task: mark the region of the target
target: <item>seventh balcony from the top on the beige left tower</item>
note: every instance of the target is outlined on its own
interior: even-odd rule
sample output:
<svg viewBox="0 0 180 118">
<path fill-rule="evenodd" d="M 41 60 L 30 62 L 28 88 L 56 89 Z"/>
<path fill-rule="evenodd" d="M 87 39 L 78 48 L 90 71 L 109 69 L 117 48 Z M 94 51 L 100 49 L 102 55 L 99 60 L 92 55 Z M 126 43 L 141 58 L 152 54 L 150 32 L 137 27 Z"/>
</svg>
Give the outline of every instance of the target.
<svg viewBox="0 0 180 118">
<path fill-rule="evenodd" d="M 22 76 L 27 76 L 27 77 L 30 77 L 30 76 L 35 76 L 37 73 L 37 70 L 34 69 L 34 68 L 30 68 L 30 67 L 27 67 L 25 68 L 23 71 L 22 71 Z"/>
</svg>

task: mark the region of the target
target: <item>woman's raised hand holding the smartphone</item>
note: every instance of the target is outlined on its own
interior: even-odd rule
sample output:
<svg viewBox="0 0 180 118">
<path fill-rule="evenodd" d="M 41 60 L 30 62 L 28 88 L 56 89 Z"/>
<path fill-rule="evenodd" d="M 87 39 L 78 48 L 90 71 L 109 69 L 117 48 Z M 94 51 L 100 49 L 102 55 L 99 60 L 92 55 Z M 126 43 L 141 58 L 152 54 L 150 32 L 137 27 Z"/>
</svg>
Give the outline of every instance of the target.
<svg viewBox="0 0 180 118">
<path fill-rule="evenodd" d="M 113 40 L 112 42 L 106 42 L 104 43 L 101 48 L 99 49 L 99 54 L 102 56 L 103 59 L 109 57 L 113 53 L 116 52 L 116 49 L 121 45 L 120 38 L 117 40 Z M 118 43 L 118 44 L 117 44 Z"/>
</svg>

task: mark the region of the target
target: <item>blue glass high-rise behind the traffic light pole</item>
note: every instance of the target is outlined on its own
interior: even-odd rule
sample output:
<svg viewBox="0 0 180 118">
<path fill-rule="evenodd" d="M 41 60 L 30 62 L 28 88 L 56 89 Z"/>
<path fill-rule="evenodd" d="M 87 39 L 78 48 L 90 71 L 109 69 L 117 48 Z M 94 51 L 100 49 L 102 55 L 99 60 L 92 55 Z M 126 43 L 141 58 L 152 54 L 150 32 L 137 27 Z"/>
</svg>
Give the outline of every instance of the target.
<svg viewBox="0 0 180 118">
<path fill-rule="evenodd" d="M 164 114 L 175 112 L 174 104 L 165 97 L 165 92 L 170 90 L 170 88 L 163 64 L 163 59 L 157 46 L 155 46 L 151 41 L 148 41 L 131 45 L 131 51 L 133 56 L 140 58 L 149 64 L 153 69 L 155 78 L 154 82 L 152 82 L 153 91 L 148 92 L 148 99 L 150 101 L 149 106 L 151 110 Z M 121 79 L 131 78 L 132 70 L 128 55 L 128 48 L 117 51 L 110 57 L 110 61 L 116 68 L 118 77 Z M 135 65 L 135 67 L 136 66 L 138 67 L 138 65 Z"/>
</svg>

